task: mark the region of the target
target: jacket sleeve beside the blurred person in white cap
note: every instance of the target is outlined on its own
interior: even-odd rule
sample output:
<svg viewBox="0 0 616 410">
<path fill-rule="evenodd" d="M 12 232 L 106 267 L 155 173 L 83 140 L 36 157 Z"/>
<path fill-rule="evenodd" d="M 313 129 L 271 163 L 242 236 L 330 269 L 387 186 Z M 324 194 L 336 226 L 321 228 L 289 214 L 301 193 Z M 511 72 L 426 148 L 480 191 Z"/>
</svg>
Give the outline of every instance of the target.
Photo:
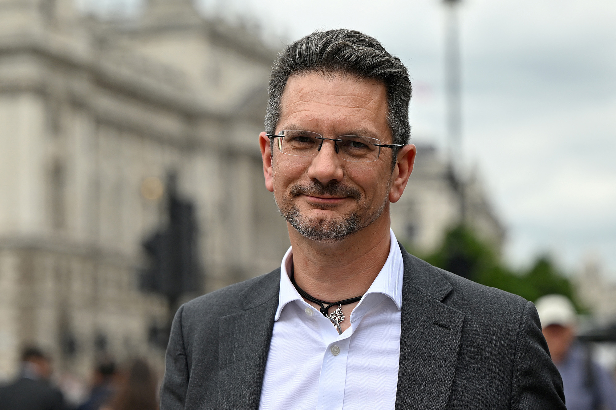
<svg viewBox="0 0 616 410">
<path fill-rule="evenodd" d="M 527 302 L 517 332 L 511 383 L 511 409 L 563 409 L 561 374 L 541 333 L 537 309 Z"/>
</svg>

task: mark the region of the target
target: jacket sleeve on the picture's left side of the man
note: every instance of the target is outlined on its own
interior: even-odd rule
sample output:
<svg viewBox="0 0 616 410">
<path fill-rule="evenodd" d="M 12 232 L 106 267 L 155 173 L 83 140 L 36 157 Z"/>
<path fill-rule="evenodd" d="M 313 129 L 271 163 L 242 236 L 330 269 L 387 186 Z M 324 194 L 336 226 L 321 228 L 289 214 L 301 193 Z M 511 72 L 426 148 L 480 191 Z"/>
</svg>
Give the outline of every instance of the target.
<svg viewBox="0 0 616 410">
<path fill-rule="evenodd" d="M 182 312 L 177 310 L 171 324 L 171 335 L 165 356 L 163 383 L 160 387 L 160 410 L 183 410 L 188 389 L 188 363 L 182 333 Z"/>
</svg>

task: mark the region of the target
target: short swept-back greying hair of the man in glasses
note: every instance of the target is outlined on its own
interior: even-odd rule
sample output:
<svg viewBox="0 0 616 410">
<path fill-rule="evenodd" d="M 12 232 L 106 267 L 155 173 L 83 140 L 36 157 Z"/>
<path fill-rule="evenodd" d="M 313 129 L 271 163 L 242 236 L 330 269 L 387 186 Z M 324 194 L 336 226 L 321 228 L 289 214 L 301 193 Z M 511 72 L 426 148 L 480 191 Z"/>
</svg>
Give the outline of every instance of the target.
<svg viewBox="0 0 616 410">
<path fill-rule="evenodd" d="M 265 114 L 265 131 L 268 134 L 275 134 L 280 122 L 280 100 L 289 77 L 311 72 L 351 74 L 381 82 L 387 89 L 387 123 L 392 143 L 408 143 L 411 135 L 408 124 L 411 81 L 407 68 L 400 58 L 389 54 L 375 38 L 342 28 L 315 31 L 288 45 L 278 55 L 269 80 Z"/>
</svg>

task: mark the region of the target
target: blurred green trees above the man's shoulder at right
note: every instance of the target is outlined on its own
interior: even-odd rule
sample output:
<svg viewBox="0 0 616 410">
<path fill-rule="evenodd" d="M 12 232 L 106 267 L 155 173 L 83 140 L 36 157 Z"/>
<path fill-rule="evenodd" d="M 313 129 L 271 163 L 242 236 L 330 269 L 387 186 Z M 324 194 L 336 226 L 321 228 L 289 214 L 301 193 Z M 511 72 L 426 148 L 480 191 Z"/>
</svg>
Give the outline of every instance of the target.
<svg viewBox="0 0 616 410">
<path fill-rule="evenodd" d="M 447 232 L 434 253 L 424 260 L 456 275 L 486 286 L 498 287 L 535 302 L 547 294 L 562 294 L 580 305 L 569 279 L 548 255 L 541 255 L 527 270 L 514 271 L 500 262 L 492 247 L 468 227 L 458 225 Z"/>
</svg>

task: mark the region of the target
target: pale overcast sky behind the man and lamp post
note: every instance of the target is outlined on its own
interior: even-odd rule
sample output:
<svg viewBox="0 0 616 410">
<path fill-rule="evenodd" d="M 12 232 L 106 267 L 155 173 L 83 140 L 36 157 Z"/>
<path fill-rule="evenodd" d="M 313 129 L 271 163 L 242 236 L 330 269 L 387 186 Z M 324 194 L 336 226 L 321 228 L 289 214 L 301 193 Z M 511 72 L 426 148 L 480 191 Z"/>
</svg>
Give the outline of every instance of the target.
<svg viewBox="0 0 616 410">
<path fill-rule="evenodd" d="M 203 4 L 254 16 L 278 44 L 320 28 L 375 36 L 410 70 L 413 142 L 444 147 L 440 1 Z M 594 254 L 616 279 L 616 2 L 466 0 L 460 17 L 463 158 L 508 228 L 506 257 L 550 252 L 574 271 Z"/>
</svg>

